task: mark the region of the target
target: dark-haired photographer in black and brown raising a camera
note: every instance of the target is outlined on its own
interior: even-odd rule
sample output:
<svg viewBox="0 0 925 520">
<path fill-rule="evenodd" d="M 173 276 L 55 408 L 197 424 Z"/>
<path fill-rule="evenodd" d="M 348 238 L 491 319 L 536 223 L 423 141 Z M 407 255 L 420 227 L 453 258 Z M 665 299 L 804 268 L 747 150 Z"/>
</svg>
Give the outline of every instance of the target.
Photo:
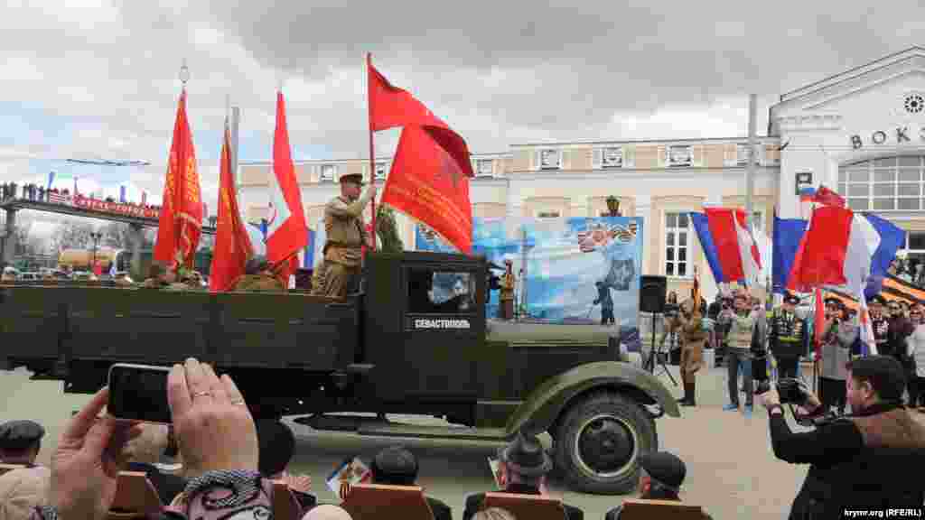
<svg viewBox="0 0 925 520">
<path fill-rule="evenodd" d="M 819 399 L 797 379 L 782 379 L 759 394 L 768 409 L 774 454 L 791 464 L 811 464 L 796 495 L 791 519 L 841 518 L 847 509 L 921 508 L 925 480 L 925 427 L 903 407 L 906 380 L 892 357 L 874 355 L 845 365 L 845 400 L 852 414 L 820 418 Z M 790 430 L 781 403 L 799 405 L 797 420 L 816 429 Z"/>
</svg>

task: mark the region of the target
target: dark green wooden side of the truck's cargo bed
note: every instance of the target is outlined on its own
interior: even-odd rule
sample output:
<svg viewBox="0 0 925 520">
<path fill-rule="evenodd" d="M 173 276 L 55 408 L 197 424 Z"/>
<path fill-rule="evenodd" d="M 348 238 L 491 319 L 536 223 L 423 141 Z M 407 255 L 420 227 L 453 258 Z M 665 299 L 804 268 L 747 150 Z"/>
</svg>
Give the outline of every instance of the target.
<svg viewBox="0 0 925 520">
<path fill-rule="evenodd" d="M 0 288 L 0 368 L 71 362 L 332 372 L 355 362 L 358 305 L 303 294 L 96 287 Z"/>
</svg>

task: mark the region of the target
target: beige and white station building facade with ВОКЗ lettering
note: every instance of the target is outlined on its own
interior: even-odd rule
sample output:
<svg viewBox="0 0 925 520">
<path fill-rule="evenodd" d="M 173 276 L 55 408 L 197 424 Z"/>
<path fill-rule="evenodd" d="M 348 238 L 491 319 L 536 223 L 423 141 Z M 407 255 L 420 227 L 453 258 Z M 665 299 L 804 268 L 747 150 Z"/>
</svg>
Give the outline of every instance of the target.
<svg viewBox="0 0 925 520">
<path fill-rule="evenodd" d="M 909 230 L 909 254 L 925 257 L 923 117 L 919 48 L 783 94 L 771 106 L 769 135 L 759 138 L 752 199 L 759 232 L 771 236 L 775 209 L 781 217 L 807 217 L 799 188 L 824 184 L 853 208 Z M 683 294 L 697 266 L 709 295 L 715 287 L 686 214 L 744 205 L 748 157 L 745 137 L 512 144 L 472 155 L 470 201 L 475 217 L 598 217 L 615 195 L 624 216 L 643 219 L 644 274 L 668 277 L 670 290 Z M 390 166 L 388 157 L 376 160 L 380 188 Z M 341 175 L 368 179 L 368 170 L 368 160 L 297 163 L 310 226 L 339 193 Z M 265 216 L 271 171 L 266 162 L 239 167 L 240 205 L 250 221 Z M 413 248 L 413 222 L 400 216 L 399 227 L 405 247 Z"/>
</svg>

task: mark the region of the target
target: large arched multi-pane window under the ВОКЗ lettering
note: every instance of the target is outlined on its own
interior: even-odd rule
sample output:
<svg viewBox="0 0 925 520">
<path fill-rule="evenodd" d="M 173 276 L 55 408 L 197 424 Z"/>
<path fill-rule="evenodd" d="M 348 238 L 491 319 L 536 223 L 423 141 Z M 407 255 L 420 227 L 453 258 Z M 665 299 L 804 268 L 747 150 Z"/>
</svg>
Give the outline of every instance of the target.
<svg viewBox="0 0 925 520">
<path fill-rule="evenodd" d="M 838 168 L 838 192 L 857 211 L 923 209 L 922 155 L 859 161 Z"/>
</svg>

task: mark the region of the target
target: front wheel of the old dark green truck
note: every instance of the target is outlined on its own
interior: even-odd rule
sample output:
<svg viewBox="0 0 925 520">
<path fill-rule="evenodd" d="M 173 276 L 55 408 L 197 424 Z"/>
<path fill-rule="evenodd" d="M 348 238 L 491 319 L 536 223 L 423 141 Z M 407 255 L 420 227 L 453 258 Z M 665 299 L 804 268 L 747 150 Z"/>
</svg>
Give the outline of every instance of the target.
<svg viewBox="0 0 925 520">
<path fill-rule="evenodd" d="M 556 435 L 556 465 L 569 487 L 602 495 L 631 492 L 639 455 L 658 448 L 655 422 L 635 402 L 610 392 L 574 404 Z"/>
</svg>

